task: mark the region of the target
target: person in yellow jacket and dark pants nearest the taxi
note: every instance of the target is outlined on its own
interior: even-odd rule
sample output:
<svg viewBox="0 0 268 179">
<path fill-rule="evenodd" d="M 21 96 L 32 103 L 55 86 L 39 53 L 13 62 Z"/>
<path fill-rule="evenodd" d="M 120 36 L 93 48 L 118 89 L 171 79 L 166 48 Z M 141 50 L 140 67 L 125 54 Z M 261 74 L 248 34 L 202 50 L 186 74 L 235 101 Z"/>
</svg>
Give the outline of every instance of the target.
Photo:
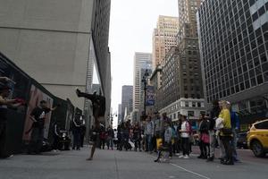
<svg viewBox="0 0 268 179">
<path fill-rule="evenodd" d="M 232 147 L 231 147 L 231 124 L 230 124 L 230 109 L 229 109 L 229 102 L 222 100 L 220 101 L 220 107 L 222 107 L 222 111 L 219 115 L 222 118 L 223 128 L 220 130 L 220 139 L 225 149 L 225 158 L 222 159 L 221 163 L 223 165 L 233 165 L 233 158 L 232 158 Z"/>
</svg>

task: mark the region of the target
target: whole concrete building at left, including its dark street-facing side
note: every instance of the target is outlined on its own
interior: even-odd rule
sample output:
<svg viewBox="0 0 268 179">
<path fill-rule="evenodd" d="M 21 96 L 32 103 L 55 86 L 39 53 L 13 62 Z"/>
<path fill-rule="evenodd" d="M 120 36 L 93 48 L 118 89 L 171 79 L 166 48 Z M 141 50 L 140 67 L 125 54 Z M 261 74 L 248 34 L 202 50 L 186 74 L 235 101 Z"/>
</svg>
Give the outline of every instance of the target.
<svg viewBox="0 0 268 179">
<path fill-rule="evenodd" d="M 91 91 L 95 64 L 110 103 L 110 5 L 111 0 L 0 0 L 1 51 L 54 95 L 84 109 L 87 125 L 93 124 L 91 103 L 74 90 Z"/>
</svg>

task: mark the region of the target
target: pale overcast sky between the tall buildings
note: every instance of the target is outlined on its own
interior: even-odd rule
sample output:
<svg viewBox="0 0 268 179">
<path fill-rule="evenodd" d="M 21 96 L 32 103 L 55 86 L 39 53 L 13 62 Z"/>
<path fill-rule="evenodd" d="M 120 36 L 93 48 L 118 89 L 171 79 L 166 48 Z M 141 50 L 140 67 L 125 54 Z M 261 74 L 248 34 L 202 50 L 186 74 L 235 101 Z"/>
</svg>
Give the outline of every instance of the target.
<svg viewBox="0 0 268 179">
<path fill-rule="evenodd" d="M 178 17 L 178 0 L 112 0 L 109 47 L 113 113 L 121 104 L 121 86 L 133 85 L 134 53 L 152 53 L 152 34 L 159 15 Z"/>
</svg>

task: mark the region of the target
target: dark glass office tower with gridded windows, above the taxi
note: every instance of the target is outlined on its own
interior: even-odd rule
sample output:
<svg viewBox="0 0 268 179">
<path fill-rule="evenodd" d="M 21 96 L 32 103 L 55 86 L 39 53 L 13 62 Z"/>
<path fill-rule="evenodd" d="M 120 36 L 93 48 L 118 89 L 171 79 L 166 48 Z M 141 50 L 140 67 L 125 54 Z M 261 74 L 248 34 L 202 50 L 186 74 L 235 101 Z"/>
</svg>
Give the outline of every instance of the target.
<svg viewBox="0 0 268 179">
<path fill-rule="evenodd" d="M 242 123 L 267 111 L 267 11 L 263 0 L 204 1 L 198 10 L 205 99 L 229 100 Z"/>
</svg>

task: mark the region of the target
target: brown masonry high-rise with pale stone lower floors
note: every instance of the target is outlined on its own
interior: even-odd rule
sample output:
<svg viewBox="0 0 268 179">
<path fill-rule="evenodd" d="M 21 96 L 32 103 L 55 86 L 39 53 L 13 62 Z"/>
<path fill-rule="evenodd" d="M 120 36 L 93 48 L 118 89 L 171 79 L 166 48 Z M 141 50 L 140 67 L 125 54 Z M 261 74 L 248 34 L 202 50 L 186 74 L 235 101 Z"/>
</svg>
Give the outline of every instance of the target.
<svg viewBox="0 0 268 179">
<path fill-rule="evenodd" d="M 172 120 L 177 120 L 180 114 L 197 120 L 205 110 L 195 15 L 200 1 L 179 0 L 178 3 L 177 47 L 172 47 L 165 55 L 158 102 L 160 111 L 166 112 Z"/>
</svg>

